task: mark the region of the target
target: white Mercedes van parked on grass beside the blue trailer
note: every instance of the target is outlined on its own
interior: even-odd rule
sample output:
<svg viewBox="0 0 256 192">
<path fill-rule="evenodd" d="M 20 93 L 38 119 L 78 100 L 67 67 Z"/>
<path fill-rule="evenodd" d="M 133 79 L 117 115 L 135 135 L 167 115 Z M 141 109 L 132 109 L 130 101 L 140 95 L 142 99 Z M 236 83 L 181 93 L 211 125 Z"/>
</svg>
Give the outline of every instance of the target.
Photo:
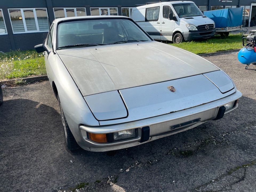
<svg viewBox="0 0 256 192">
<path fill-rule="evenodd" d="M 161 2 L 134 7 L 131 18 L 153 39 L 181 43 L 215 34 L 215 23 L 192 1 Z"/>
</svg>

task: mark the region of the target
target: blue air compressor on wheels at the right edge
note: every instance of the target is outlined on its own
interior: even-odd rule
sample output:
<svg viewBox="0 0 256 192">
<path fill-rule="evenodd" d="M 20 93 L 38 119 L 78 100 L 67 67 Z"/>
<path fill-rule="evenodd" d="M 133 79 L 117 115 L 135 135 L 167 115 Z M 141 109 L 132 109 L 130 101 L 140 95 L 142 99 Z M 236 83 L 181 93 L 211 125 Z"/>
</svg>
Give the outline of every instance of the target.
<svg viewBox="0 0 256 192">
<path fill-rule="evenodd" d="M 250 64 L 256 65 L 256 33 L 243 37 L 243 48 L 238 53 L 238 60 L 248 69 Z"/>
</svg>

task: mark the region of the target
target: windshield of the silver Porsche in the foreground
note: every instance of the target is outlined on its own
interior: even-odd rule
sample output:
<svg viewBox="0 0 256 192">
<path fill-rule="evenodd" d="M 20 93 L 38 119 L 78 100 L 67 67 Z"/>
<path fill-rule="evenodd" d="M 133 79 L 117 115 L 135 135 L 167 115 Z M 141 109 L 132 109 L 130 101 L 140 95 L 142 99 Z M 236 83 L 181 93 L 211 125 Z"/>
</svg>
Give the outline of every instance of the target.
<svg viewBox="0 0 256 192">
<path fill-rule="evenodd" d="M 60 23 L 57 49 L 151 41 L 129 19 L 88 19 Z"/>
</svg>

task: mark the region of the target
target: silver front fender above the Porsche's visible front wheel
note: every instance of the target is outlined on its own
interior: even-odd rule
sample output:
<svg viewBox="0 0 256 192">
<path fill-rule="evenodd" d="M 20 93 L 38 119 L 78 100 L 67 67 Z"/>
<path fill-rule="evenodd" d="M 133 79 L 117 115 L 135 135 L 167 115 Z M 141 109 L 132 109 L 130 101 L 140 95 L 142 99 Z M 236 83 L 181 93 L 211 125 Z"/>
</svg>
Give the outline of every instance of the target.
<svg viewBox="0 0 256 192">
<path fill-rule="evenodd" d="M 94 118 L 58 54 L 50 53 L 48 55 L 46 68 L 51 86 L 54 82 L 57 87 L 59 99 L 70 130 L 76 141 L 79 142 L 81 139 L 79 125 L 99 126 L 99 122 Z"/>
</svg>

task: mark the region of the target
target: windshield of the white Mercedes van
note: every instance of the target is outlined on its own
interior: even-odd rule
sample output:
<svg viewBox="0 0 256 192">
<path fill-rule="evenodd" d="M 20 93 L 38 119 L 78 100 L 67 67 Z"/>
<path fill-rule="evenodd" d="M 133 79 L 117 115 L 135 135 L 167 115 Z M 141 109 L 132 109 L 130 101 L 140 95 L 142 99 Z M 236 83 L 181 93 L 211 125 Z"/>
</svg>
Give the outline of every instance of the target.
<svg viewBox="0 0 256 192">
<path fill-rule="evenodd" d="M 203 16 L 202 11 L 195 5 L 195 3 L 178 3 L 173 4 L 173 7 L 180 18 Z"/>
</svg>

